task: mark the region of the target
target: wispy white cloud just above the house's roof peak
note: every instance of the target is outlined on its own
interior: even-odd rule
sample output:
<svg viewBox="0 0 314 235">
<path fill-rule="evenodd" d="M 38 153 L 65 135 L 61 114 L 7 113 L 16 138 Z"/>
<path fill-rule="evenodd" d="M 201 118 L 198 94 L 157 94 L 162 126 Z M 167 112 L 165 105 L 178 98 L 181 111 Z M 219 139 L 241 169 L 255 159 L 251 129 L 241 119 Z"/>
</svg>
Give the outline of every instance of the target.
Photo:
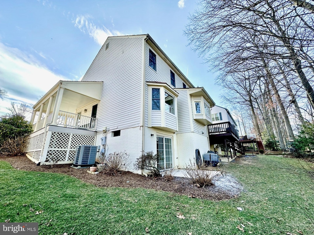
<svg viewBox="0 0 314 235">
<path fill-rule="evenodd" d="M 89 15 L 78 15 L 75 20 L 73 20 L 74 26 L 78 27 L 84 34 L 89 34 L 91 38 L 95 40 L 99 45 L 103 45 L 107 37 L 120 36 L 123 35 L 119 31 L 110 31 L 105 26 L 99 27 L 90 20 Z"/>
</svg>

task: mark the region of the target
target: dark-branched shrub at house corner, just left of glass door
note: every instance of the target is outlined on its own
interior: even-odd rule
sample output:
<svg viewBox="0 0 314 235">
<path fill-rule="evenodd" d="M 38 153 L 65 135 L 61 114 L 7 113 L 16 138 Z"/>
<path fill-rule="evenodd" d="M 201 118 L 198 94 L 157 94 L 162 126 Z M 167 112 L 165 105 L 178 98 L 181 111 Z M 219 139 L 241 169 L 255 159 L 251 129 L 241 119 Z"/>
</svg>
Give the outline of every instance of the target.
<svg viewBox="0 0 314 235">
<path fill-rule="evenodd" d="M 148 170 L 149 173 L 154 176 L 161 176 L 160 170 L 157 167 L 158 155 L 153 152 L 142 152 L 142 155 L 136 159 L 134 168 L 136 170 Z"/>
</svg>

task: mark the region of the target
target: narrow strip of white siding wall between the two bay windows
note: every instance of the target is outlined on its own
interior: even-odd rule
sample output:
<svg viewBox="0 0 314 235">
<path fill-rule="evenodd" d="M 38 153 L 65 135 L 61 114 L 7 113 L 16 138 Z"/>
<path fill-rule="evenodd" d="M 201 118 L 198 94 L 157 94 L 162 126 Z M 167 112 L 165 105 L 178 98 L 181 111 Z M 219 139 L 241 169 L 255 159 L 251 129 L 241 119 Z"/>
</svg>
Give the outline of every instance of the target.
<svg viewBox="0 0 314 235">
<path fill-rule="evenodd" d="M 186 133 L 191 131 L 190 117 L 189 115 L 189 99 L 187 97 L 187 90 L 177 91 L 179 96 L 177 97 L 178 108 L 178 132 Z"/>
</svg>

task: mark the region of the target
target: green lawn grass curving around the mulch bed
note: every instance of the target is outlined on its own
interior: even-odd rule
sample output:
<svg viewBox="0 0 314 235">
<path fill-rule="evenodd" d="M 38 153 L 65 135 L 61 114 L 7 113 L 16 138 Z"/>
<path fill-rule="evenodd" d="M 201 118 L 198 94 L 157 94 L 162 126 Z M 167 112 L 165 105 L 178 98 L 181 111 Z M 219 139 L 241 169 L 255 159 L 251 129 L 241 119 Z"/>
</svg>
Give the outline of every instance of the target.
<svg viewBox="0 0 314 235">
<path fill-rule="evenodd" d="M 225 169 L 245 191 L 215 202 L 147 189 L 97 188 L 0 161 L 0 221 L 38 222 L 45 235 L 147 234 L 146 227 L 149 234 L 314 233 L 307 217 L 314 216 L 313 179 L 297 159 L 263 155 Z M 179 212 L 185 219 L 176 217 Z M 241 224 L 244 233 L 237 228 Z"/>
</svg>

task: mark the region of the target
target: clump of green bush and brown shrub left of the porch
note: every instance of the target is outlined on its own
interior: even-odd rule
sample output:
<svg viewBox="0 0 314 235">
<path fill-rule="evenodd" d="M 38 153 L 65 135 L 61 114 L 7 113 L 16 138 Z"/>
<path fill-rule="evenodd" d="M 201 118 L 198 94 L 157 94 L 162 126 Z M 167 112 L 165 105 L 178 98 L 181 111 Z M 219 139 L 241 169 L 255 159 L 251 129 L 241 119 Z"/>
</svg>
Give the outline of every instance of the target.
<svg viewBox="0 0 314 235">
<path fill-rule="evenodd" d="M 22 155 L 26 149 L 24 137 L 33 132 L 33 126 L 24 116 L 0 118 L 0 152 L 4 155 Z"/>
</svg>

